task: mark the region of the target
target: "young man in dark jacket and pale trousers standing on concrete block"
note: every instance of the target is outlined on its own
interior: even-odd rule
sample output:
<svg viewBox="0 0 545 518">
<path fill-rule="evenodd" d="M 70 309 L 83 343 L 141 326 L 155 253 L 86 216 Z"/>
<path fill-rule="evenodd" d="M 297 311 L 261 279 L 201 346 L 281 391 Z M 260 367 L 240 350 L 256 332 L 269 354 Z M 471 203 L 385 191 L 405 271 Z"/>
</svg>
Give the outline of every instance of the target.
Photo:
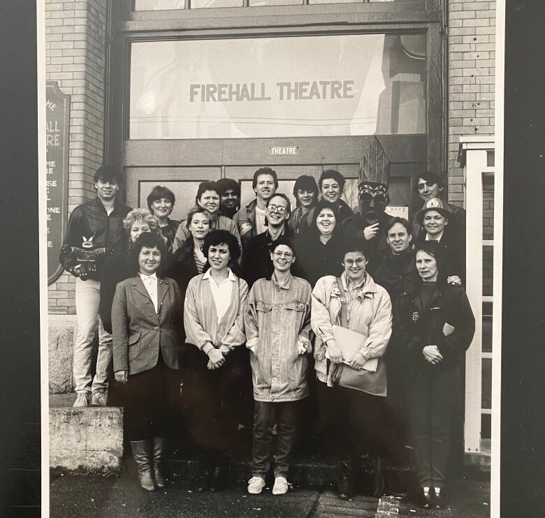
<svg viewBox="0 0 545 518">
<path fill-rule="evenodd" d="M 73 406 L 104 406 L 108 397 L 108 369 L 112 361 L 112 335 L 99 317 L 101 267 L 106 255 L 99 251 L 123 250 L 128 242 L 123 228 L 124 217 L 131 207 L 115 199 L 121 183 L 117 168 L 103 165 L 94 175 L 96 198 L 78 205 L 68 220 L 59 256 L 61 265 L 75 279 L 75 314 L 78 334 L 74 343 L 73 376 L 78 397 Z M 85 253 L 95 252 L 96 260 L 82 261 Z M 99 331 L 96 374 L 91 363 L 94 336 Z"/>
</svg>

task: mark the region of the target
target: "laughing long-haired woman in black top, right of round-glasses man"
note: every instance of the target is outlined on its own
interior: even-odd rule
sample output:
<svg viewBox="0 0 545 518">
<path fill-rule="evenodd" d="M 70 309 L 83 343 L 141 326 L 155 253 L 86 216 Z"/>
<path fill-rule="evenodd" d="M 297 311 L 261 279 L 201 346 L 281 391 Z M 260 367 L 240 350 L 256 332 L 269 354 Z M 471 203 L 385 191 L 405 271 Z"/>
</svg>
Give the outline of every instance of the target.
<svg viewBox="0 0 545 518">
<path fill-rule="evenodd" d="M 300 276 L 314 286 L 325 275 L 339 276 L 342 271 L 344 238 L 337 225 L 335 205 L 321 200 L 314 207 L 310 229 L 297 239 Z"/>
</svg>

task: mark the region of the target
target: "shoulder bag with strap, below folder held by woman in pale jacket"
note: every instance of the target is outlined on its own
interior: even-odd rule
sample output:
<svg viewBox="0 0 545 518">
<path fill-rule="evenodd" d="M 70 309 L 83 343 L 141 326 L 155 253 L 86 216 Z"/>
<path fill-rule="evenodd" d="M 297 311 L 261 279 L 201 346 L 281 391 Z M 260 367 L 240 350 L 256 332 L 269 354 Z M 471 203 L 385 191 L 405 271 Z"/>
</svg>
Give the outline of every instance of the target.
<svg viewBox="0 0 545 518">
<path fill-rule="evenodd" d="M 342 281 L 339 277 L 337 277 L 337 286 L 341 297 L 346 299 Z M 342 327 L 348 327 L 347 304 L 341 304 L 340 320 Z M 357 370 L 345 364 L 341 365 L 338 383 L 341 387 L 367 392 L 375 396 L 386 396 L 386 364 L 384 364 L 382 358 L 379 358 L 376 371 Z"/>
</svg>

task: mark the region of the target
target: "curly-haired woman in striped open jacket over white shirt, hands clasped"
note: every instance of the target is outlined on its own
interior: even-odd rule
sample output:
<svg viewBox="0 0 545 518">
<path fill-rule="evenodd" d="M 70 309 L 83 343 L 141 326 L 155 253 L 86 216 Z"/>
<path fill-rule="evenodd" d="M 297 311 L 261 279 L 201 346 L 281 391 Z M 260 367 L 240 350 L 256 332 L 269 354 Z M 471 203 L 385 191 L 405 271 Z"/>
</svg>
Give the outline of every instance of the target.
<svg viewBox="0 0 545 518">
<path fill-rule="evenodd" d="M 240 257 L 240 246 L 230 232 L 212 230 L 203 253 L 210 269 L 189 281 L 184 303 L 184 399 L 189 400 L 189 430 L 205 464 L 197 490 L 216 491 L 228 467 L 241 412 L 252 408 L 251 373 L 243 347 L 248 286 L 230 267 Z"/>
</svg>

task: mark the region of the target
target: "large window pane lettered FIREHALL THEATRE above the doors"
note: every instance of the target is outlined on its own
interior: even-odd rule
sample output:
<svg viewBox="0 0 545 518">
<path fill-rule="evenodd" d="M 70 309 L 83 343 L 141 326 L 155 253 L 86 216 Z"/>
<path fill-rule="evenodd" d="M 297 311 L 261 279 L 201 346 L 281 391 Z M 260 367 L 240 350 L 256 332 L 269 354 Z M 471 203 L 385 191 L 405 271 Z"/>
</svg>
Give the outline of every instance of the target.
<svg viewBox="0 0 545 518">
<path fill-rule="evenodd" d="M 425 77 L 423 35 L 133 43 L 130 138 L 425 133 Z"/>
</svg>

